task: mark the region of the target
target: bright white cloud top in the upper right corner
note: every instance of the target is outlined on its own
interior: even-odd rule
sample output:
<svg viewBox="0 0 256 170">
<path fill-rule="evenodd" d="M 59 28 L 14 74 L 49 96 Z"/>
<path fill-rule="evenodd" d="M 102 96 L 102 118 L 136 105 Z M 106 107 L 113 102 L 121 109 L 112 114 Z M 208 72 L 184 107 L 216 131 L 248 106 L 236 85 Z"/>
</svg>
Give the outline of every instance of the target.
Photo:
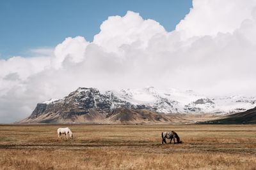
<svg viewBox="0 0 256 170">
<path fill-rule="evenodd" d="M 252 18 L 255 5 L 255 0 L 193 0 L 193 8 L 176 30 L 182 31 L 184 38 L 232 33 L 244 19 Z"/>
</svg>

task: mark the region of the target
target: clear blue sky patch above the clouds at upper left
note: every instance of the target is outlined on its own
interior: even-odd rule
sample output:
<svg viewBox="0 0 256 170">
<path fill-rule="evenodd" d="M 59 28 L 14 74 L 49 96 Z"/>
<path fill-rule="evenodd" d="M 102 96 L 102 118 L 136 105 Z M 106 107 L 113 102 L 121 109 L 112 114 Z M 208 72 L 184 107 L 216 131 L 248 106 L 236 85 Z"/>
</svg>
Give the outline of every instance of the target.
<svg viewBox="0 0 256 170">
<path fill-rule="evenodd" d="M 0 1 L 0 59 L 29 57 L 31 48 L 54 48 L 65 38 L 83 36 L 92 41 L 109 16 L 140 13 L 175 29 L 192 2 L 189 0 L 140 1 Z"/>
</svg>

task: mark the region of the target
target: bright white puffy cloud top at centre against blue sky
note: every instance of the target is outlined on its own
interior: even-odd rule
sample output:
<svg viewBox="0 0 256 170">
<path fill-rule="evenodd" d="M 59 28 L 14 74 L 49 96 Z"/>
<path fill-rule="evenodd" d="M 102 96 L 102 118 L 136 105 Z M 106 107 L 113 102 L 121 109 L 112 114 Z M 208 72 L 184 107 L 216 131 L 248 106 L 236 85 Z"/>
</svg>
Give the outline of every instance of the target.
<svg viewBox="0 0 256 170">
<path fill-rule="evenodd" d="M 125 45 L 145 49 L 153 36 L 165 33 L 164 27 L 155 20 L 143 20 L 139 13 L 127 11 L 124 17 L 108 17 L 100 25 L 100 33 L 94 36 L 93 43 L 108 52 L 122 52 Z"/>
</svg>

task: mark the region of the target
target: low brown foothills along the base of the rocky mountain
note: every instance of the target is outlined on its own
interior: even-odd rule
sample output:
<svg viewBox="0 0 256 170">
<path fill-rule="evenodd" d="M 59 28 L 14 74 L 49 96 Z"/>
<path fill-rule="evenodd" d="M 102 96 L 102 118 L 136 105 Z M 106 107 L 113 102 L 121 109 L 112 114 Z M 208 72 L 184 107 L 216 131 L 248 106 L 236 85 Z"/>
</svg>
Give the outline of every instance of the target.
<svg viewBox="0 0 256 170">
<path fill-rule="evenodd" d="M 148 110 L 135 110 L 128 108 L 116 108 L 109 113 L 99 113 L 96 110 L 88 110 L 83 115 L 43 114 L 39 117 L 26 118 L 19 123 L 89 123 L 89 124 L 163 124 L 171 123 L 173 118 L 161 113 Z"/>
</svg>

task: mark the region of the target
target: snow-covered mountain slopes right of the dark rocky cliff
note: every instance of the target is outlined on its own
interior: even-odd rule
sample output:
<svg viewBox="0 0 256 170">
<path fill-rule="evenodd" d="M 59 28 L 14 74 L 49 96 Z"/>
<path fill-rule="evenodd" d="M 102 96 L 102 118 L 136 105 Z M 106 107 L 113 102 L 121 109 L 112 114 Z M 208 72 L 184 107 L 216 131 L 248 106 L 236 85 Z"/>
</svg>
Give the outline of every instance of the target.
<svg viewBox="0 0 256 170">
<path fill-rule="evenodd" d="M 193 90 L 159 90 L 147 87 L 112 91 L 112 93 L 122 101 L 134 106 L 145 105 L 150 110 L 159 113 L 236 113 L 256 106 L 256 97 L 209 97 L 193 92 Z"/>
</svg>

